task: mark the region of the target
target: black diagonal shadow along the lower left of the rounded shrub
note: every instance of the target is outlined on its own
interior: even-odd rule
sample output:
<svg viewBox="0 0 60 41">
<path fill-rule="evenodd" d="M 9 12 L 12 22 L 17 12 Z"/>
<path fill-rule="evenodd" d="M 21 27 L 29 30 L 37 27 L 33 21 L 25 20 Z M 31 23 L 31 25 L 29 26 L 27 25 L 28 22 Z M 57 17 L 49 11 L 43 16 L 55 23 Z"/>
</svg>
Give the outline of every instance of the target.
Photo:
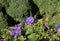
<svg viewBox="0 0 60 41">
<path fill-rule="evenodd" d="M 1 11 L 3 13 L 3 16 L 6 17 L 8 26 L 14 26 L 15 24 L 19 23 L 19 22 L 16 22 L 11 16 L 7 14 L 5 7 L 2 7 Z"/>
</svg>

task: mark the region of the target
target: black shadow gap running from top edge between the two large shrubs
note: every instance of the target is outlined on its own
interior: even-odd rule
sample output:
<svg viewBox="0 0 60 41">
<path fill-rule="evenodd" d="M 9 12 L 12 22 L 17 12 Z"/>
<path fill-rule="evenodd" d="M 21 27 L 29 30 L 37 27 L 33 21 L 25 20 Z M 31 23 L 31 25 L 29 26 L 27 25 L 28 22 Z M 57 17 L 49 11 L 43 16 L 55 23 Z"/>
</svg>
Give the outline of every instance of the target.
<svg viewBox="0 0 60 41">
<path fill-rule="evenodd" d="M 30 10 L 32 12 L 32 16 L 37 15 L 37 19 L 43 18 L 42 15 L 40 15 L 38 6 L 33 2 L 33 0 L 28 0 L 28 4 L 30 5 Z"/>
</svg>

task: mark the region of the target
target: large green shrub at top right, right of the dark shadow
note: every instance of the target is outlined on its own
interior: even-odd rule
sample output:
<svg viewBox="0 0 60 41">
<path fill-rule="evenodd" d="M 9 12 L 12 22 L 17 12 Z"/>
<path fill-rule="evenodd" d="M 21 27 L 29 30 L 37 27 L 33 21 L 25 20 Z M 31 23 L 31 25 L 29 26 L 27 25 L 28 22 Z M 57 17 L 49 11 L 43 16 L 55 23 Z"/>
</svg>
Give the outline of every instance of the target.
<svg viewBox="0 0 60 41">
<path fill-rule="evenodd" d="M 56 13 L 59 10 L 59 0 L 33 0 L 36 5 L 39 7 L 40 14 L 51 15 Z M 58 8 L 58 9 L 57 9 Z M 57 10 L 56 10 L 57 9 Z"/>
</svg>

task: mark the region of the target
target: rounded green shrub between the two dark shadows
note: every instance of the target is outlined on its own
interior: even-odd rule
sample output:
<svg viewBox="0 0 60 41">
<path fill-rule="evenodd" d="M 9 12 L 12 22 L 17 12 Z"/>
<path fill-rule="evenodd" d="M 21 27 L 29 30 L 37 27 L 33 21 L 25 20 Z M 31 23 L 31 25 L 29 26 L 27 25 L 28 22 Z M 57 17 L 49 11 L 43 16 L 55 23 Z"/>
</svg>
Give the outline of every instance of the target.
<svg viewBox="0 0 60 41">
<path fill-rule="evenodd" d="M 23 0 L 11 0 L 6 11 L 14 20 L 23 22 L 23 16 L 28 14 L 28 4 Z"/>
</svg>

